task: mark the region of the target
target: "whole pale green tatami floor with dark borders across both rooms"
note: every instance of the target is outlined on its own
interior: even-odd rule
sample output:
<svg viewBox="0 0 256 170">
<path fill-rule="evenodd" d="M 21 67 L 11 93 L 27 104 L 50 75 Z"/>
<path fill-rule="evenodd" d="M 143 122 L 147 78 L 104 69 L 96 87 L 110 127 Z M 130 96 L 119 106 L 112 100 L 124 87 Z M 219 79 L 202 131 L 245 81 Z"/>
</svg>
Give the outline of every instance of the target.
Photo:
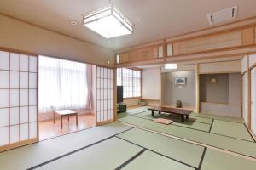
<svg viewBox="0 0 256 170">
<path fill-rule="evenodd" d="M 1 169 L 255 169 L 256 143 L 241 120 L 172 119 L 162 125 L 146 107 L 130 110 L 119 122 L 0 153 Z"/>
</svg>

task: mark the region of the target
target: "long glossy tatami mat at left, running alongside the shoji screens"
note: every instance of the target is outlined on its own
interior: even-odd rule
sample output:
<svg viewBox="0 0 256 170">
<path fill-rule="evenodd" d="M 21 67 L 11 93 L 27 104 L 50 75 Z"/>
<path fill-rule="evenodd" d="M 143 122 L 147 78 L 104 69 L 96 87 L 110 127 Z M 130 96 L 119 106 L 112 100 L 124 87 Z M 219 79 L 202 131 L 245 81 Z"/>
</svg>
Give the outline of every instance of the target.
<svg viewBox="0 0 256 170">
<path fill-rule="evenodd" d="M 49 161 L 73 150 L 106 139 L 129 128 L 131 127 L 114 122 L 54 139 L 44 140 L 36 144 L 29 144 L 15 150 L 5 151 L 0 153 L 0 169 L 20 170 L 34 167 L 44 161 Z"/>
</svg>

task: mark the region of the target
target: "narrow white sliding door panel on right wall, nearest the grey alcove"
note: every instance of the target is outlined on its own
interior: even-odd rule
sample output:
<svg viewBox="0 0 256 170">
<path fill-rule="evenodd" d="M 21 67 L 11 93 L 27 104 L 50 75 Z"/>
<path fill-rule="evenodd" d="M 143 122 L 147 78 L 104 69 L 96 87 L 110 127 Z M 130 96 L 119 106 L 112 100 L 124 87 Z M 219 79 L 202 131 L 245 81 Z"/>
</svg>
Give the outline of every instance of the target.
<svg viewBox="0 0 256 170">
<path fill-rule="evenodd" d="M 248 125 L 248 73 L 242 76 L 242 118 Z"/>
</svg>

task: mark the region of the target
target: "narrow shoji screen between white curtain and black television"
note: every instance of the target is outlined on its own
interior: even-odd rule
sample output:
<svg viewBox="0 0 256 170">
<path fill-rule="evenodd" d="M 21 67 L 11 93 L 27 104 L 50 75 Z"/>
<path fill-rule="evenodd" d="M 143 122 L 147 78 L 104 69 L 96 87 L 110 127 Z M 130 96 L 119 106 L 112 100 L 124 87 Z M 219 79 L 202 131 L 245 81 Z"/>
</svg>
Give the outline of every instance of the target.
<svg viewBox="0 0 256 170">
<path fill-rule="evenodd" d="M 96 69 L 96 121 L 103 124 L 113 121 L 113 69 Z"/>
</svg>

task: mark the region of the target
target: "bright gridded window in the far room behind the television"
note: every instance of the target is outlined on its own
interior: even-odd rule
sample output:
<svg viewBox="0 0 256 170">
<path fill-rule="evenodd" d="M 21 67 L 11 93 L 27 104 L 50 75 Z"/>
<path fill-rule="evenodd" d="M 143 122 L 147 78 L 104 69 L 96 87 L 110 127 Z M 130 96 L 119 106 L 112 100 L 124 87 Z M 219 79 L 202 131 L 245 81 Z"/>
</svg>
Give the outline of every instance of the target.
<svg viewBox="0 0 256 170">
<path fill-rule="evenodd" d="M 124 98 L 141 96 L 141 71 L 117 69 L 117 85 L 124 87 Z"/>
</svg>

